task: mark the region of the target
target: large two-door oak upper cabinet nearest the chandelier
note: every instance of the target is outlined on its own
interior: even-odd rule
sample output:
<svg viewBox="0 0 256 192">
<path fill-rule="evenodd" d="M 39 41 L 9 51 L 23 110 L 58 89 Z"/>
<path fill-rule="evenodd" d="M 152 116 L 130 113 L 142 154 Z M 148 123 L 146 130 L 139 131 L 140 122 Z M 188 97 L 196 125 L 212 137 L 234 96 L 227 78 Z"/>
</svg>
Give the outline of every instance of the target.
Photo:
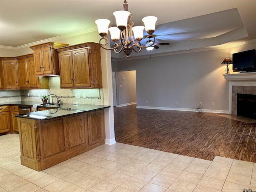
<svg viewBox="0 0 256 192">
<path fill-rule="evenodd" d="M 60 88 L 102 88 L 100 45 L 88 42 L 57 49 Z"/>
</svg>

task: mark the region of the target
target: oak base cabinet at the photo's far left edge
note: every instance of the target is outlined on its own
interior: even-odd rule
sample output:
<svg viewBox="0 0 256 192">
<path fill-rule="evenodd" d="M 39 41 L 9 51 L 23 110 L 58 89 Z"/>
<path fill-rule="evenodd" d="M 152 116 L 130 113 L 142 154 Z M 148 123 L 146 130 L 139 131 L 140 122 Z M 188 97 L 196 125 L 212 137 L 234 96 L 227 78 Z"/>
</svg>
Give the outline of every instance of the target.
<svg viewBox="0 0 256 192">
<path fill-rule="evenodd" d="M 10 132 L 9 106 L 0 106 L 0 133 Z"/>
</svg>

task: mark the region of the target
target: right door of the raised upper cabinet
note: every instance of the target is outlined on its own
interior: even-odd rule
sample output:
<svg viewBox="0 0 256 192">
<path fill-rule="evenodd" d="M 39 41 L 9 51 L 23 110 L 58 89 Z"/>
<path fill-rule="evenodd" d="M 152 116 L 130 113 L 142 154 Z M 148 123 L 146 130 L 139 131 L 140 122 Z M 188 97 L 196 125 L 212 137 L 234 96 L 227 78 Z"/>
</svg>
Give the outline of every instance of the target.
<svg viewBox="0 0 256 192">
<path fill-rule="evenodd" d="M 52 48 L 44 47 L 42 51 L 42 67 L 44 74 L 52 74 Z"/>
</svg>

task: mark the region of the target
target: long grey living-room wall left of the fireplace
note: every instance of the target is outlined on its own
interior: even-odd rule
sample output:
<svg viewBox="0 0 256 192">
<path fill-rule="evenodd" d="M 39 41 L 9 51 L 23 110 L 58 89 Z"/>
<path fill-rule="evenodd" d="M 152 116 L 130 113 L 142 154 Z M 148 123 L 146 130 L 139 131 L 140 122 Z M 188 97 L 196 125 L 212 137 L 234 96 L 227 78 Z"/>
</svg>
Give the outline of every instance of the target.
<svg viewBox="0 0 256 192">
<path fill-rule="evenodd" d="M 228 112 L 228 81 L 220 65 L 228 56 L 226 48 L 127 59 L 118 62 L 118 71 L 136 70 L 137 106 L 192 109 L 202 102 L 206 110 Z"/>
</svg>

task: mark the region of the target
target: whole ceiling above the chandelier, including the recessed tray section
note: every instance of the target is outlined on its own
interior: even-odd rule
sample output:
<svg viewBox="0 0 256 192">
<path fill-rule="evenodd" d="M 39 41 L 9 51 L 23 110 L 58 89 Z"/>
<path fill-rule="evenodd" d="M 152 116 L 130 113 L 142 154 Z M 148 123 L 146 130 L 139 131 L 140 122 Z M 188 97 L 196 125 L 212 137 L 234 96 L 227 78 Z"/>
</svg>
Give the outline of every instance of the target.
<svg viewBox="0 0 256 192">
<path fill-rule="evenodd" d="M 112 13 L 122 10 L 123 2 L 124 0 L 1 0 L 0 47 L 18 48 L 74 32 L 96 30 L 94 21 L 99 18 L 109 19 L 110 25 L 114 26 L 115 18 Z M 152 50 L 150 54 L 232 46 L 256 39 L 255 0 L 127 2 L 134 26 L 143 25 L 141 19 L 144 16 L 156 16 L 156 42 L 170 43 L 160 45 L 159 49 Z M 145 40 L 142 44 L 145 44 Z M 143 50 L 142 54 L 148 54 L 148 51 Z"/>
</svg>

